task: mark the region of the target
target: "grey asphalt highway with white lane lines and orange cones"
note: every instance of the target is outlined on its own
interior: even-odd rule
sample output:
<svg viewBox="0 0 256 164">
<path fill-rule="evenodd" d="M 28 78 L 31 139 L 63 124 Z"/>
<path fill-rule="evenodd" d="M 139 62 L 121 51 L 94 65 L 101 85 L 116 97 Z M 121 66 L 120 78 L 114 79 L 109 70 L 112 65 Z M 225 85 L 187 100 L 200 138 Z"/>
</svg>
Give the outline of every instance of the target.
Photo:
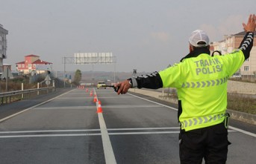
<svg viewBox="0 0 256 164">
<path fill-rule="evenodd" d="M 33 102 L 0 106 L 0 163 L 179 163 L 176 105 L 110 88 Z M 228 138 L 227 163 L 255 163 L 255 125 L 231 120 Z"/>
</svg>

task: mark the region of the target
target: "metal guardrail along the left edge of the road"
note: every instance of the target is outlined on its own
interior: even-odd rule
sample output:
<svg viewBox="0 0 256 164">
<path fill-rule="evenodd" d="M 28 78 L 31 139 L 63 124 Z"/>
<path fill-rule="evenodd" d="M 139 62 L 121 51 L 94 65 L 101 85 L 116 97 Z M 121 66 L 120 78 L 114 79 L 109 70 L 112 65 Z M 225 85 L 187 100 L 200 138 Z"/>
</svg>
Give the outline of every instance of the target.
<svg viewBox="0 0 256 164">
<path fill-rule="evenodd" d="M 19 101 L 21 99 L 28 99 L 31 96 L 37 96 L 39 94 L 48 94 L 50 91 L 55 91 L 55 87 L 36 88 L 23 91 L 20 90 L 0 93 L 0 105 L 4 103 Z"/>
</svg>

